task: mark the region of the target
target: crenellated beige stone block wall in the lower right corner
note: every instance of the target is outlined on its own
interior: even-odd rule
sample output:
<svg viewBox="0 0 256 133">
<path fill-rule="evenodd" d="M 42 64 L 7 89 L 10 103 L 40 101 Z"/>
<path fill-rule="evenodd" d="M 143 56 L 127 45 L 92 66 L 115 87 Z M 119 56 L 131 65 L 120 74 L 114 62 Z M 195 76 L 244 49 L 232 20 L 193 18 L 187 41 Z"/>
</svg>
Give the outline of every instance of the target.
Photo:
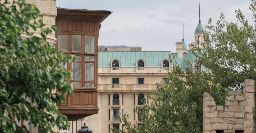
<svg viewBox="0 0 256 133">
<path fill-rule="evenodd" d="M 203 133 L 253 133 L 254 80 L 244 81 L 244 95 L 232 90 L 225 99 L 224 106 L 216 106 L 209 93 L 203 96 Z"/>
</svg>

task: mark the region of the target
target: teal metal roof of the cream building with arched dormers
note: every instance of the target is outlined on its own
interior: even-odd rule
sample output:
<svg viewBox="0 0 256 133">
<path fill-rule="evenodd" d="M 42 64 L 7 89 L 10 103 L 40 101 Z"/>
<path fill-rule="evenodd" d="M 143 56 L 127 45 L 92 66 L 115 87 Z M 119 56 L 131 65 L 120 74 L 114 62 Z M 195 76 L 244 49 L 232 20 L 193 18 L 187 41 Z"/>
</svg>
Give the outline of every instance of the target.
<svg viewBox="0 0 256 133">
<path fill-rule="evenodd" d="M 195 51 L 197 52 L 197 51 Z M 144 59 L 146 67 L 161 67 L 163 59 L 169 59 L 171 51 L 99 51 L 98 52 L 98 67 L 110 67 L 111 60 L 119 59 L 121 67 L 136 67 L 138 59 Z M 192 50 L 188 53 L 183 53 L 183 58 L 178 59 L 177 53 L 173 53 L 179 66 L 186 68 L 185 60 L 189 59 L 191 63 L 196 61 Z M 171 64 L 172 66 L 172 64 Z M 204 71 L 210 70 L 203 67 Z"/>
</svg>

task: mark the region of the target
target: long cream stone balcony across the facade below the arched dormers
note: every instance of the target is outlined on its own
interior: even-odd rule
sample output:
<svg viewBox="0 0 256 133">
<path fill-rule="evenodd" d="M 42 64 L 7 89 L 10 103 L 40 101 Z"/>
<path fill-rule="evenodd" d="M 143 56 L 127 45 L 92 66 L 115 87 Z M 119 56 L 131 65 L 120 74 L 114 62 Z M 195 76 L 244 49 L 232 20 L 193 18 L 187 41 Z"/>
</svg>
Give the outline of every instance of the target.
<svg viewBox="0 0 256 133">
<path fill-rule="evenodd" d="M 155 84 L 98 84 L 98 91 L 107 90 L 120 90 L 120 91 L 139 91 L 139 90 L 149 90 L 155 91 Z"/>
</svg>

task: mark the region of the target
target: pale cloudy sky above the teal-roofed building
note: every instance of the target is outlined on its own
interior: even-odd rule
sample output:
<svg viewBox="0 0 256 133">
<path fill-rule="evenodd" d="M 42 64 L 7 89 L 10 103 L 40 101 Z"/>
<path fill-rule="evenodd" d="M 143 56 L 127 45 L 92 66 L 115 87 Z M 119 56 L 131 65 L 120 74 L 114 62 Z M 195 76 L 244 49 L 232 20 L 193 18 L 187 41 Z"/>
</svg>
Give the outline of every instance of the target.
<svg viewBox="0 0 256 133">
<path fill-rule="evenodd" d="M 182 24 L 186 44 L 194 42 L 200 16 L 203 27 L 219 20 L 237 22 L 235 10 L 240 9 L 252 22 L 251 0 L 57 0 L 57 6 L 72 9 L 108 10 L 102 23 L 98 45 L 141 46 L 142 51 L 176 52 L 182 41 Z"/>
</svg>

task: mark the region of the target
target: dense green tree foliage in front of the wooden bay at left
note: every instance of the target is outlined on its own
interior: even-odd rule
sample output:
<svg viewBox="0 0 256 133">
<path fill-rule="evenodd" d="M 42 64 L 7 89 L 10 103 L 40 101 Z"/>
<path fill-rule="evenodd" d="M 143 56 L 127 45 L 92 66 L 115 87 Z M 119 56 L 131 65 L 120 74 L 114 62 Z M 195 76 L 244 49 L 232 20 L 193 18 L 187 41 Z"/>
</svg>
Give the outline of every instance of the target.
<svg viewBox="0 0 256 133">
<path fill-rule="evenodd" d="M 73 92 L 66 82 L 70 72 L 61 68 L 61 63 L 73 57 L 58 53 L 46 42 L 51 30 L 43 29 L 42 20 L 37 21 L 35 5 L 25 0 L 8 1 L 0 3 L 0 133 L 28 133 L 25 126 L 17 124 L 21 120 L 39 127 L 42 133 L 54 133 L 53 126 L 67 129 L 67 117 L 56 104 L 65 100 L 64 94 Z M 29 29 L 41 29 L 42 38 L 33 36 Z M 21 33 L 31 37 L 24 39 Z"/>
</svg>

